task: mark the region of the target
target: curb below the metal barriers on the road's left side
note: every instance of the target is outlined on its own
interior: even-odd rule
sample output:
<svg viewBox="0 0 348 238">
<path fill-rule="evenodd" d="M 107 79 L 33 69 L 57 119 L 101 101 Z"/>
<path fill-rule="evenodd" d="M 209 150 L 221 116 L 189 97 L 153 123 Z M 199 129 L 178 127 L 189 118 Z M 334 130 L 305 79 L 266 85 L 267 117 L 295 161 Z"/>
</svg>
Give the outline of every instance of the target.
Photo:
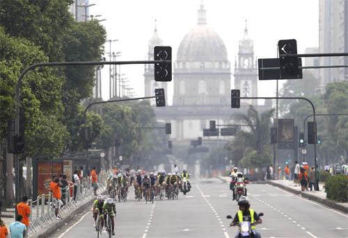
<svg viewBox="0 0 348 238">
<path fill-rule="evenodd" d="M 102 192 L 101 194 L 106 194 L 107 191 Z M 65 226 L 65 223 L 69 223 L 74 219 L 74 216 L 77 214 L 80 214 L 81 212 L 84 212 L 87 207 L 90 207 L 90 205 L 93 203 L 95 198 L 91 198 L 90 200 L 86 201 L 86 203 L 82 204 L 80 207 L 78 207 L 76 210 L 72 211 L 70 214 L 65 216 L 61 221 L 54 222 L 49 224 L 49 228 L 47 230 L 43 230 L 42 232 L 38 232 L 37 234 L 30 235 L 31 238 L 46 238 L 51 237 L 51 235 L 54 234 L 58 229 Z"/>
</svg>

